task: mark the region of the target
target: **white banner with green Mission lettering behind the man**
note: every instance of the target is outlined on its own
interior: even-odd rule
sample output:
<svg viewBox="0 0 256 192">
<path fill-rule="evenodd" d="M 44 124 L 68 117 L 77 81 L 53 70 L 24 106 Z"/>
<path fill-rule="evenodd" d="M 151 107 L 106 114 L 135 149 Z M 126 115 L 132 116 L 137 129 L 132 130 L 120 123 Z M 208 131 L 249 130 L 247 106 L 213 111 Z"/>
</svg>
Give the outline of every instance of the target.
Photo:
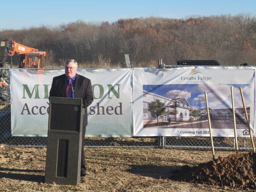
<svg viewBox="0 0 256 192">
<path fill-rule="evenodd" d="M 92 82 L 86 136 L 132 136 L 132 69 L 78 69 Z M 47 136 L 52 79 L 64 70 L 11 69 L 12 136 Z M 47 103 L 48 102 L 48 103 Z"/>
</svg>

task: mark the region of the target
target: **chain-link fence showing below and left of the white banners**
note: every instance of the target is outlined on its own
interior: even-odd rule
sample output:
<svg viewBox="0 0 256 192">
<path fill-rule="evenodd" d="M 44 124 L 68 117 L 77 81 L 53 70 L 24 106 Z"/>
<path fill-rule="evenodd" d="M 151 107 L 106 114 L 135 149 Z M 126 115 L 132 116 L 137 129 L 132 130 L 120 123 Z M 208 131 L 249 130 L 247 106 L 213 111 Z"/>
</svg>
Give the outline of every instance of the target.
<svg viewBox="0 0 256 192">
<path fill-rule="evenodd" d="M 5 76 L 4 76 L 4 75 Z M 0 78 L 10 82 L 8 69 L 0 69 Z M 0 87 L 8 93 L 8 100 L 0 97 L 0 144 L 5 146 L 47 146 L 47 137 L 13 137 L 11 134 L 10 88 Z M 254 138 L 254 143 L 255 143 Z M 214 149 L 235 150 L 233 137 L 213 137 Z M 179 149 L 211 149 L 209 137 L 86 137 L 85 147 L 151 147 Z M 249 137 L 238 138 L 239 150 L 252 150 Z"/>
</svg>

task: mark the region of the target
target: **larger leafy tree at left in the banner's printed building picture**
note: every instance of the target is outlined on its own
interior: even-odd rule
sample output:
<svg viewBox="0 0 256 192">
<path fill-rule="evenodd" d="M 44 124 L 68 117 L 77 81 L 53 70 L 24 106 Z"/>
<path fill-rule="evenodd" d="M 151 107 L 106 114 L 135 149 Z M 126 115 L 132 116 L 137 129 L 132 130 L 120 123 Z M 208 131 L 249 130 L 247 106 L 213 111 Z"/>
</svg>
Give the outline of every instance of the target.
<svg viewBox="0 0 256 192">
<path fill-rule="evenodd" d="M 162 117 L 163 114 L 167 113 L 164 107 L 164 103 L 162 103 L 159 99 L 151 101 L 148 104 L 148 111 L 151 113 L 153 118 L 157 118 L 157 125 L 159 124 L 158 117 Z"/>
</svg>

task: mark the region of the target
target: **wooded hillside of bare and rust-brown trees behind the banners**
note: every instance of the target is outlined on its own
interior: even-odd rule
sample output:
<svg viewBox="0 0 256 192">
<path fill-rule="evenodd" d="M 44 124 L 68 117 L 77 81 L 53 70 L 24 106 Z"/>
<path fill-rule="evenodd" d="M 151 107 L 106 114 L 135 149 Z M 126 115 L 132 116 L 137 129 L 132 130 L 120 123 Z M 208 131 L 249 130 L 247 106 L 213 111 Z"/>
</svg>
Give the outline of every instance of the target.
<svg viewBox="0 0 256 192">
<path fill-rule="evenodd" d="M 46 51 L 47 66 L 63 66 L 73 58 L 84 67 L 125 67 L 124 54 L 134 67 L 157 66 L 158 58 L 166 65 L 178 59 L 256 65 L 256 17 L 251 14 L 120 19 L 113 24 L 77 20 L 57 27 L 6 29 L 0 39 Z"/>
</svg>

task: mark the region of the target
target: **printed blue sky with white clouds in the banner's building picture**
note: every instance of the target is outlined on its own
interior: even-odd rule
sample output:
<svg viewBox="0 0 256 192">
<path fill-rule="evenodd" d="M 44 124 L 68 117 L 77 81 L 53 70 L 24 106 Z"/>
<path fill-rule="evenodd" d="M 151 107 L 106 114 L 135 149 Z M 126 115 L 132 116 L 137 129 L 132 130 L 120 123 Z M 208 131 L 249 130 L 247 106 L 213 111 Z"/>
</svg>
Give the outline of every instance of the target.
<svg viewBox="0 0 256 192">
<path fill-rule="evenodd" d="M 243 89 L 246 106 L 250 105 L 250 85 L 232 84 L 234 105 L 243 107 L 239 87 Z M 229 84 L 169 84 L 169 85 L 143 85 L 143 90 L 167 98 L 177 99 L 184 97 L 191 106 L 205 108 L 205 94 L 207 92 L 208 105 L 211 109 L 232 108 L 231 85 Z"/>
</svg>

